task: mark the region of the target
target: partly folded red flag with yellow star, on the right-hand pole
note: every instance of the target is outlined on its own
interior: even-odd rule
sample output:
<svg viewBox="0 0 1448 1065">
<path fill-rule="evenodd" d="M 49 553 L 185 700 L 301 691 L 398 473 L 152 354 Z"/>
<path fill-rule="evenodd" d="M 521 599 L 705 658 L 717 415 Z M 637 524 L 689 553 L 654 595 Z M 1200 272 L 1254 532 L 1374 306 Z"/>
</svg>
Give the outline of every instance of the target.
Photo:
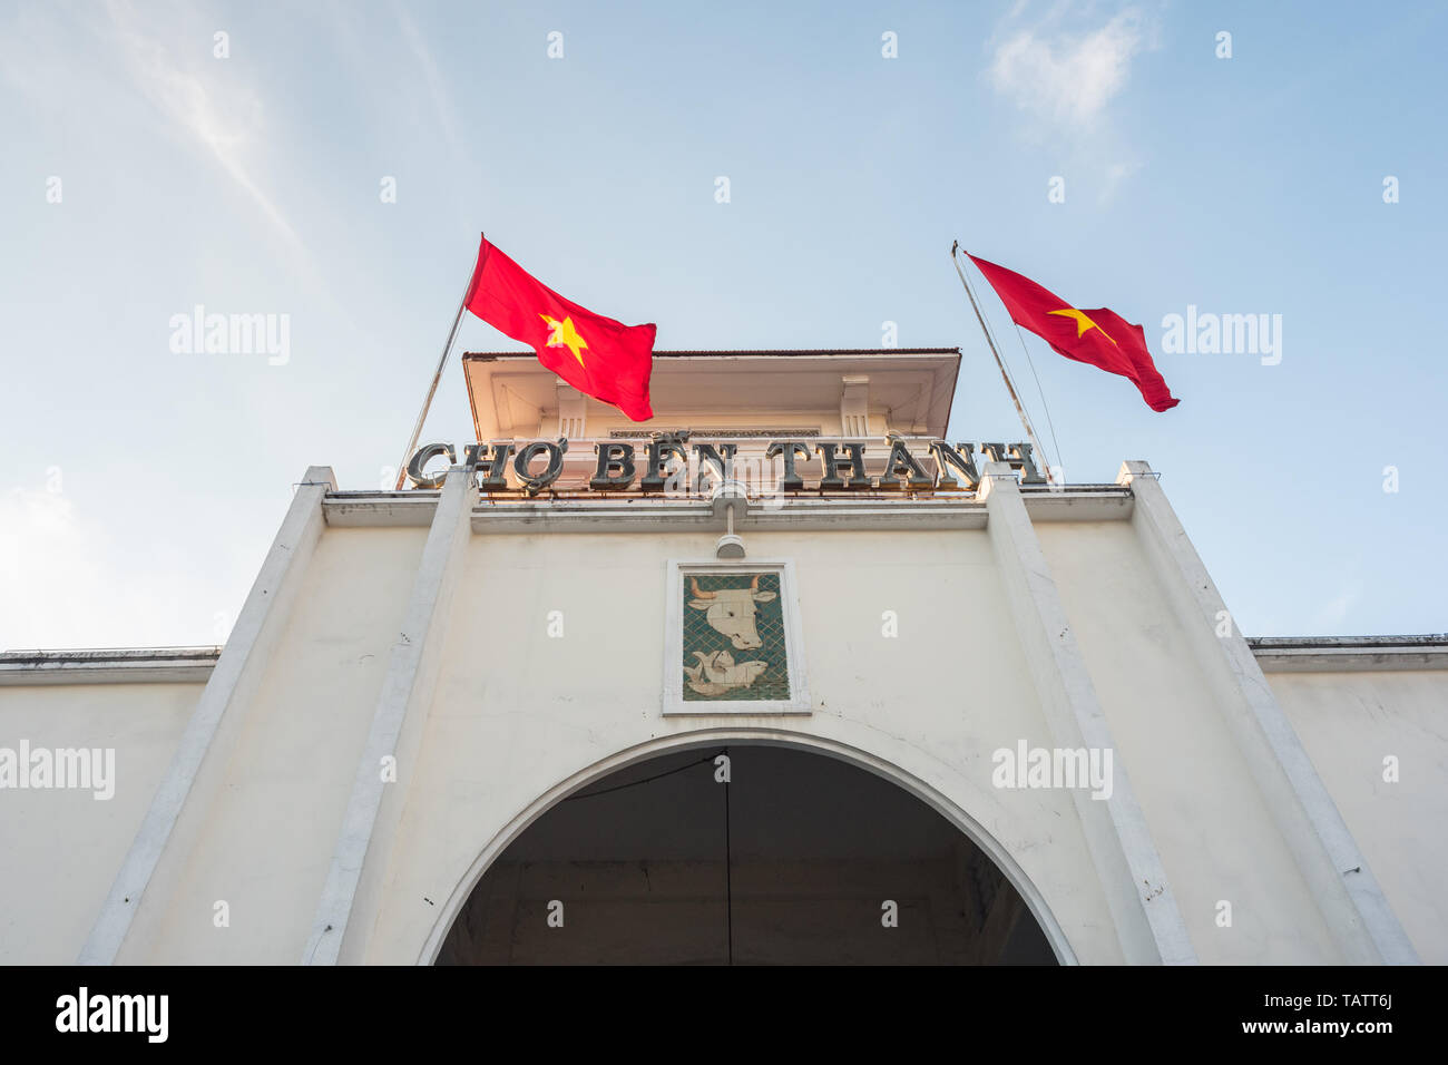
<svg viewBox="0 0 1448 1065">
<path fill-rule="evenodd" d="M 1030 329 L 1060 355 L 1131 378 L 1147 406 L 1156 412 L 1170 410 L 1182 401 L 1171 396 L 1157 372 L 1141 326 L 1105 307 L 1079 310 L 1028 277 L 975 255 L 970 261 L 996 290 L 1001 303 L 1011 312 L 1011 320 Z"/>
</svg>

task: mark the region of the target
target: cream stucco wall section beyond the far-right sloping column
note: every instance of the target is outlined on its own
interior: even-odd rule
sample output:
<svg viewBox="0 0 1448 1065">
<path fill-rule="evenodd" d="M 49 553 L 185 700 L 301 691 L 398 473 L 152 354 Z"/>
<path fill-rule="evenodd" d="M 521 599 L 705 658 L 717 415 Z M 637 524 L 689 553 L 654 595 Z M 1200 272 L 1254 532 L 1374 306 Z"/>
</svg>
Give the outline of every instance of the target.
<svg viewBox="0 0 1448 1065">
<path fill-rule="evenodd" d="M 1267 680 L 1419 958 L 1448 964 L 1448 669 Z"/>
</svg>

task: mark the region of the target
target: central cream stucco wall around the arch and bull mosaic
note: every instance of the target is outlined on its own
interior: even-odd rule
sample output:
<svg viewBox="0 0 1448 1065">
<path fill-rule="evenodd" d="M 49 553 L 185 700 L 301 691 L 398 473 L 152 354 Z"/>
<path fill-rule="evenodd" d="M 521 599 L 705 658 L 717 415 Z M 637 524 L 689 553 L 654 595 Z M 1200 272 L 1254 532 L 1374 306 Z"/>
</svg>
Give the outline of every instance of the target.
<svg viewBox="0 0 1448 1065">
<path fill-rule="evenodd" d="M 550 788 L 670 739 L 743 732 L 891 762 L 1014 856 L 1083 959 L 1121 958 L 1070 797 L 990 785 L 996 748 L 1047 745 L 1048 732 L 986 536 L 747 539 L 752 559 L 795 562 L 809 717 L 660 716 L 666 561 L 707 561 L 711 538 L 471 540 L 366 961 L 418 961 L 446 932 L 479 855 L 540 813 Z M 547 636 L 555 610 L 562 638 Z M 882 636 L 886 610 L 898 638 Z"/>
</svg>

